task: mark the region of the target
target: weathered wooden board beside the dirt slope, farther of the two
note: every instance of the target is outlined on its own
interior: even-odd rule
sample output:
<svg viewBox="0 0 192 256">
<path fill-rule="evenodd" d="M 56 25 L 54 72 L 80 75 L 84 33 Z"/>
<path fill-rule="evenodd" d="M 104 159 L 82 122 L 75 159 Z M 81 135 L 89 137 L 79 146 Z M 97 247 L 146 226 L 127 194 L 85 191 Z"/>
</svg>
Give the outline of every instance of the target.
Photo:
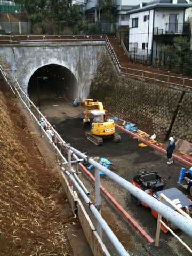
<svg viewBox="0 0 192 256">
<path fill-rule="evenodd" d="M 61 184 L 63 187 L 63 190 L 65 191 L 67 198 L 69 200 L 69 203 L 71 205 L 71 210 L 73 214 L 77 213 L 77 194 L 74 194 L 73 190 L 69 186 L 69 182 L 63 172 L 61 172 Z"/>
</svg>

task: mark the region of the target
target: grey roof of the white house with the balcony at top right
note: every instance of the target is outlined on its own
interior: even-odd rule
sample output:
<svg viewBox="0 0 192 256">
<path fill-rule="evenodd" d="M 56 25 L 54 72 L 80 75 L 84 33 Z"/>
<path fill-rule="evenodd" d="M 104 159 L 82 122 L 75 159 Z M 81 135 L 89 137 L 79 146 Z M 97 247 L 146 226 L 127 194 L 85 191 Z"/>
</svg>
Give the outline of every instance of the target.
<svg viewBox="0 0 192 256">
<path fill-rule="evenodd" d="M 127 11 L 127 14 L 135 13 L 135 12 L 142 12 L 149 9 L 154 9 L 156 7 L 171 7 L 171 8 L 190 8 L 192 4 L 188 4 L 186 0 L 177 0 L 176 4 L 173 4 L 172 0 L 154 0 L 148 3 L 141 3 L 139 5 L 135 5 L 132 7 L 130 11 Z"/>
</svg>

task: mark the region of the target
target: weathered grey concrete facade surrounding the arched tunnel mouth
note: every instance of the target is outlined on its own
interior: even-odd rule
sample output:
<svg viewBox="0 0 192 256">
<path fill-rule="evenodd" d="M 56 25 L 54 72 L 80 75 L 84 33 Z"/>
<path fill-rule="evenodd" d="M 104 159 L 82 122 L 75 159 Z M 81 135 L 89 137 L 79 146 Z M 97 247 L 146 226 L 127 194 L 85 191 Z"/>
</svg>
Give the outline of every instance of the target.
<svg viewBox="0 0 192 256">
<path fill-rule="evenodd" d="M 9 68 L 17 69 L 12 75 L 17 76 L 20 86 L 26 93 L 29 79 L 38 68 L 50 64 L 66 67 L 77 79 L 78 99 L 83 101 L 89 94 L 90 84 L 104 47 L 104 43 L 46 45 L 42 42 L 41 45 L 36 43 L 2 46 L 0 56 Z"/>
</svg>

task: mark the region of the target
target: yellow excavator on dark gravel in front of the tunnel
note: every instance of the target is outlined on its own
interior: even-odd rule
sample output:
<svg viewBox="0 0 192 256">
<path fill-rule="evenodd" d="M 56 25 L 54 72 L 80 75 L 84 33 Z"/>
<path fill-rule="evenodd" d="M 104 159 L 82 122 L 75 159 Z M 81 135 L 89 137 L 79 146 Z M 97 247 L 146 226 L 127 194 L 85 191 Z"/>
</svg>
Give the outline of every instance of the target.
<svg viewBox="0 0 192 256">
<path fill-rule="evenodd" d="M 94 109 L 90 109 L 94 108 Z M 85 99 L 85 119 L 84 127 L 90 125 L 89 115 L 93 115 L 91 131 L 86 132 L 86 138 L 95 145 L 101 145 L 103 138 L 110 138 L 114 142 L 121 141 L 121 136 L 115 132 L 115 123 L 113 120 L 106 118 L 107 111 L 104 110 L 101 102 L 93 102 L 93 99 Z"/>
</svg>

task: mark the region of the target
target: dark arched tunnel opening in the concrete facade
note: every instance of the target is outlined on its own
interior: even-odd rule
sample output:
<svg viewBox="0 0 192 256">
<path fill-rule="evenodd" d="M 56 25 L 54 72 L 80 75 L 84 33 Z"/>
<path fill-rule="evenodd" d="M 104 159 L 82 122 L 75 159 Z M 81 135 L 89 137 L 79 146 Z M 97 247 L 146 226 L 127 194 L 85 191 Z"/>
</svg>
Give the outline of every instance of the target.
<svg viewBox="0 0 192 256">
<path fill-rule="evenodd" d="M 30 77 L 28 95 L 37 107 L 54 98 L 78 100 L 77 79 L 66 67 L 57 64 L 45 65 Z"/>
</svg>

